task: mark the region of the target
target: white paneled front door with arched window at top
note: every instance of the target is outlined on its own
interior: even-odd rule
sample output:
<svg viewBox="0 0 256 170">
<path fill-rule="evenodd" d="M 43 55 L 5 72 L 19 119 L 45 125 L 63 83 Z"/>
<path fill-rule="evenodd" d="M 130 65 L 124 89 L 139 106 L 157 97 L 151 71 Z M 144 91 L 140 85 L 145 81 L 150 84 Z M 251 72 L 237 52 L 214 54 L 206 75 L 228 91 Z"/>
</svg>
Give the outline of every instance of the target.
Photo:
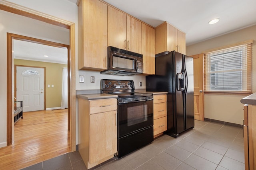
<svg viewBox="0 0 256 170">
<path fill-rule="evenodd" d="M 16 67 L 16 100 L 23 111 L 44 110 L 44 68 Z"/>
</svg>

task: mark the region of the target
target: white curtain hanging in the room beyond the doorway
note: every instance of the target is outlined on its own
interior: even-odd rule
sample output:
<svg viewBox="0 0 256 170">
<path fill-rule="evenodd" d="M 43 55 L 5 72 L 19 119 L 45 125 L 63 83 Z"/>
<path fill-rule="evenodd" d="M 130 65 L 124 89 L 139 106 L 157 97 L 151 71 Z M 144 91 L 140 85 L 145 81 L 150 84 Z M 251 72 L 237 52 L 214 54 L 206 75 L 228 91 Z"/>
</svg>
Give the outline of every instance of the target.
<svg viewBox="0 0 256 170">
<path fill-rule="evenodd" d="M 62 98 L 60 108 L 68 108 L 68 69 L 66 67 L 62 71 Z"/>
</svg>

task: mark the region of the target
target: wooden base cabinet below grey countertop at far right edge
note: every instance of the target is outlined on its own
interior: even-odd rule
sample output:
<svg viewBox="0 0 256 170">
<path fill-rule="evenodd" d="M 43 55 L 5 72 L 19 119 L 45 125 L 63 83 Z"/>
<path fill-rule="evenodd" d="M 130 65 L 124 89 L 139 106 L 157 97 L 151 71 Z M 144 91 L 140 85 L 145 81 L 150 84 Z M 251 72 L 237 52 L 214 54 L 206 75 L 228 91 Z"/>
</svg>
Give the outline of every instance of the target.
<svg viewBox="0 0 256 170">
<path fill-rule="evenodd" d="M 244 105 L 244 165 L 256 169 L 256 105 Z"/>
</svg>

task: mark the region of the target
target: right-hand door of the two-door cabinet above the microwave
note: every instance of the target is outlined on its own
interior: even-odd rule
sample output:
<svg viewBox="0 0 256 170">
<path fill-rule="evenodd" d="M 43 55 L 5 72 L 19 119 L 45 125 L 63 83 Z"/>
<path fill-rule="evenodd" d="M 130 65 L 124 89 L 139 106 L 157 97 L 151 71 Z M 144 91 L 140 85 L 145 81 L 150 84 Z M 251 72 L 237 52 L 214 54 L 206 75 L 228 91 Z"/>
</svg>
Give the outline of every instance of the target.
<svg viewBox="0 0 256 170">
<path fill-rule="evenodd" d="M 127 50 L 141 53 L 141 22 L 127 16 Z"/>
</svg>

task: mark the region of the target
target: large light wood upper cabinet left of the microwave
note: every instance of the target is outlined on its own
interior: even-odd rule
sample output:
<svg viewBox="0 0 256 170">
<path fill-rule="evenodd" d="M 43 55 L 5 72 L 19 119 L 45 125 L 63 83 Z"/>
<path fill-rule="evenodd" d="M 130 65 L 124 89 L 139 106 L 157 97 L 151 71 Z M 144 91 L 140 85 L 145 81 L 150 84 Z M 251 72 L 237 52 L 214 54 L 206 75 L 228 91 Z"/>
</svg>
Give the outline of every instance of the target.
<svg viewBox="0 0 256 170">
<path fill-rule="evenodd" d="M 99 0 L 80 0 L 78 34 L 78 69 L 106 70 L 108 5 Z"/>
</svg>

